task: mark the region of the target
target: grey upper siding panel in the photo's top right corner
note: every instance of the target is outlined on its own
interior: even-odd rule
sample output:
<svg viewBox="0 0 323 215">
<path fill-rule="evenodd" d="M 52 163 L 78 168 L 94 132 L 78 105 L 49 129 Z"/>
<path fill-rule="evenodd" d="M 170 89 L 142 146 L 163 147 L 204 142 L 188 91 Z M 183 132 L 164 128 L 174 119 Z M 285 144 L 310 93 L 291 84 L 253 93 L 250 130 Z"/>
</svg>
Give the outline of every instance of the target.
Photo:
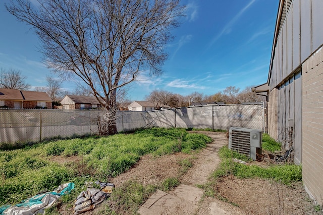
<svg viewBox="0 0 323 215">
<path fill-rule="evenodd" d="M 323 1 L 312 0 L 313 51 L 323 43 Z"/>
</svg>

